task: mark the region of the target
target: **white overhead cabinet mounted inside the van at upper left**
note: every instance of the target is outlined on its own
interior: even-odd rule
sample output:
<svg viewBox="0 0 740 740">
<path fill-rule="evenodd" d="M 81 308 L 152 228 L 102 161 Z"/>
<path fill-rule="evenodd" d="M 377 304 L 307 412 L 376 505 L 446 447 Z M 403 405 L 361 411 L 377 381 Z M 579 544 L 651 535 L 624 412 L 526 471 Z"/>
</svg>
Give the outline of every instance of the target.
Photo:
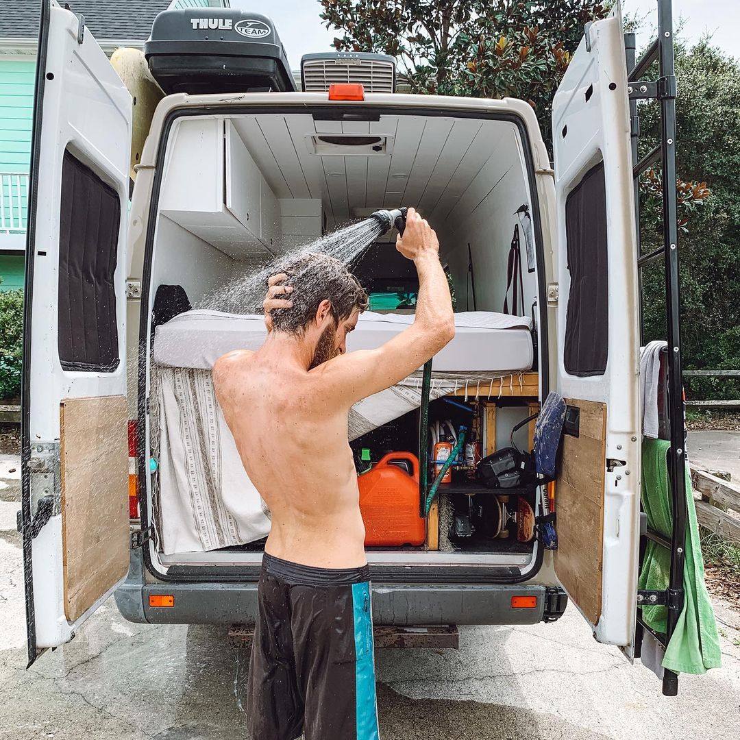
<svg viewBox="0 0 740 740">
<path fill-rule="evenodd" d="M 162 214 L 236 260 L 275 255 L 280 250 L 277 198 L 231 122 L 184 120 L 174 135 Z"/>
</svg>

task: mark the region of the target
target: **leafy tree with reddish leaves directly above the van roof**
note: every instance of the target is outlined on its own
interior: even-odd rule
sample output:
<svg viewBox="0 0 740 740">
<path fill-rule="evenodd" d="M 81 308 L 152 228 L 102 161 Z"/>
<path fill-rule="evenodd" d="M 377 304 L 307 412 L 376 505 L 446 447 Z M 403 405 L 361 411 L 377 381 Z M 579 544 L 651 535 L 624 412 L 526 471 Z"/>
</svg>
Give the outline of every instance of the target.
<svg viewBox="0 0 740 740">
<path fill-rule="evenodd" d="M 340 51 L 397 58 L 411 92 L 511 96 L 549 129 L 552 96 L 588 21 L 609 1 L 320 0 Z M 545 131 L 545 140 L 549 136 Z"/>
</svg>

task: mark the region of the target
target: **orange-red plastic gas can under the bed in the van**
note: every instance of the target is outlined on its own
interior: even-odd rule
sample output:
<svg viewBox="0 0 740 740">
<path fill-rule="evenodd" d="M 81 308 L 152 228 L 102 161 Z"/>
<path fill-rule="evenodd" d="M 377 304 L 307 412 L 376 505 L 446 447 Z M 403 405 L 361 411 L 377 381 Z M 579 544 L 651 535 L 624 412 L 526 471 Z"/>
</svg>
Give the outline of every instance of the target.
<svg viewBox="0 0 740 740">
<path fill-rule="evenodd" d="M 411 462 L 409 475 L 393 460 Z M 425 520 L 419 516 L 419 460 L 411 452 L 389 452 L 357 478 L 360 511 L 369 547 L 423 545 Z"/>
</svg>

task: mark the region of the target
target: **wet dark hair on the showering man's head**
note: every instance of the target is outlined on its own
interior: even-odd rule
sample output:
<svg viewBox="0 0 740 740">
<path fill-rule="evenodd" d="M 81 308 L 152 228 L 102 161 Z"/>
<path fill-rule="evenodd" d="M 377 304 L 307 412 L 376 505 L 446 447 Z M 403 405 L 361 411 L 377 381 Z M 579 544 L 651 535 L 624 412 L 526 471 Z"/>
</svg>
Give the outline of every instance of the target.
<svg viewBox="0 0 740 740">
<path fill-rule="evenodd" d="M 309 252 L 279 266 L 275 272 L 285 272 L 288 277 L 280 284 L 293 289 L 289 296 L 292 308 L 270 312 L 272 326 L 277 332 L 302 334 L 316 317 L 322 300 L 332 304 L 331 312 L 337 326 L 349 318 L 355 308 L 360 312 L 367 310 L 369 300 L 365 289 L 337 258 Z"/>
</svg>

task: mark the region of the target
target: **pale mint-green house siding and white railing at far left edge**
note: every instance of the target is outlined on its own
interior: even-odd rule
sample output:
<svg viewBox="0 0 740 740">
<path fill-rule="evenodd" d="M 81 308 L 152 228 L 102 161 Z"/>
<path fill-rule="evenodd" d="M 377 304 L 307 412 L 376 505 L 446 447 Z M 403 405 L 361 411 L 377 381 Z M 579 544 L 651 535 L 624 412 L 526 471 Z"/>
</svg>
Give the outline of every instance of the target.
<svg viewBox="0 0 740 740">
<path fill-rule="evenodd" d="M 33 58 L 0 58 L 0 175 L 4 175 L 0 178 L 1 206 L 5 224 L 12 213 L 13 223 L 21 229 L 26 226 L 27 181 L 10 178 L 7 173 L 27 175 L 30 167 L 35 70 Z M 0 242 L 1 239 L 0 232 Z"/>
</svg>

